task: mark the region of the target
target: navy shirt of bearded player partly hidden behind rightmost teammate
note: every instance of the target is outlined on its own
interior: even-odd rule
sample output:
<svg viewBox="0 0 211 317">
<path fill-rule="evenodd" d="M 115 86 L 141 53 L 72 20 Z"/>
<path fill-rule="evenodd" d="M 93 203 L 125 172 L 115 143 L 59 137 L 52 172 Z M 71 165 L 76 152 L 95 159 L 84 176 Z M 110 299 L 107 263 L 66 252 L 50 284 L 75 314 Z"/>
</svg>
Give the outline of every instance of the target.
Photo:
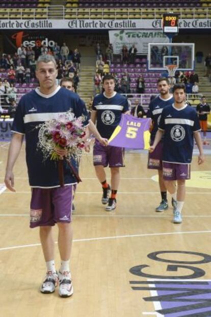
<svg viewBox="0 0 211 317">
<path fill-rule="evenodd" d="M 162 97 L 159 95 L 156 98 L 154 98 L 150 104 L 147 111 L 147 118 L 152 119 L 153 128 L 151 130 L 151 140 L 154 140 L 155 134 L 157 132 L 159 121 L 161 118 L 161 113 L 163 111 L 163 108 L 172 105 L 174 102 L 173 96 L 171 95 L 169 99 L 162 99 Z"/>
</svg>

